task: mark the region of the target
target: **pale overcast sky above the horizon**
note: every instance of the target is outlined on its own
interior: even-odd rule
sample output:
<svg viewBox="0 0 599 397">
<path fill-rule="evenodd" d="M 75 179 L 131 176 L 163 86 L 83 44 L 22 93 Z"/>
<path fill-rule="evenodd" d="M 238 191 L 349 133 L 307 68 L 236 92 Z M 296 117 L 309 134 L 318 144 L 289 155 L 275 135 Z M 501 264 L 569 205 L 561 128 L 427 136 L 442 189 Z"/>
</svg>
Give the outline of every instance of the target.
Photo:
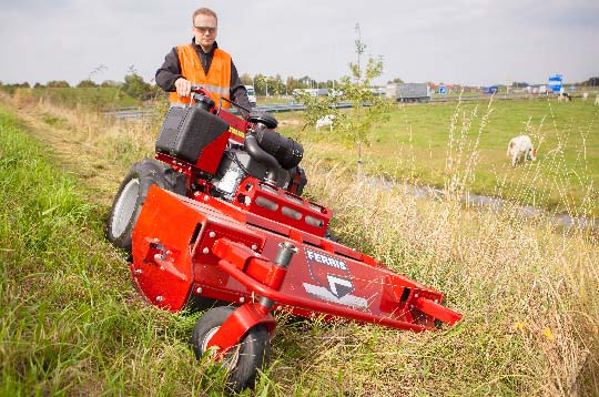
<svg viewBox="0 0 599 397">
<path fill-rule="evenodd" d="M 191 14 L 219 14 L 219 45 L 240 72 L 317 81 L 363 61 L 384 84 L 573 83 L 599 75 L 599 0 L 0 0 L 0 81 L 153 81 L 192 38 Z"/>
</svg>

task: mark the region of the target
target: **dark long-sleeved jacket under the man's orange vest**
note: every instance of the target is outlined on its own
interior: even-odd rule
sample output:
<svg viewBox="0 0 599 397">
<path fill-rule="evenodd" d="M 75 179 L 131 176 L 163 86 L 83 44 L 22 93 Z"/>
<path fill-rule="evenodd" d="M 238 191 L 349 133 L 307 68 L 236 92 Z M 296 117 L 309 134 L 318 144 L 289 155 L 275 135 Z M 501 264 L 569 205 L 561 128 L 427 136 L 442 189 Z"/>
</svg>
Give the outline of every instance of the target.
<svg viewBox="0 0 599 397">
<path fill-rule="evenodd" d="M 214 57 L 214 50 L 219 48 L 216 42 L 212 45 L 212 49 L 206 53 L 202 49 L 201 45 L 197 45 L 195 43 L 195 40 L 192 39 L 193 48 L 195 49 L 195 52 L 197 53 L 197 58 L 200 59 L 200 62 L 202 63 L 202 68 L 204 69 L 204 73 L 207 74 L 210 67 L 212 64 L 212 59 Z M 164 57 L 164 63 L 162 67 L 156 71 L 156 84 L 163 89 L 166 92 L 173 92 L 176 91 L 175 88 L 175 81 L 179 78 L 185 78 L 181 74 L 181 62 L 179 61 L 179 51 L 176 50 L 176 47 L 174 47 L 171 52 Z M 231 100 L 242 106 L 245 106 L 250 109 L 250 99 L 247 98 L 247 91 L 245 90 L 245 86 L 243 85 L 240 74 L 237 73 L 237 68 L 235 68 L 235 64 L 233 63 L 233 59 L 231 59 Z"/>
</svg>

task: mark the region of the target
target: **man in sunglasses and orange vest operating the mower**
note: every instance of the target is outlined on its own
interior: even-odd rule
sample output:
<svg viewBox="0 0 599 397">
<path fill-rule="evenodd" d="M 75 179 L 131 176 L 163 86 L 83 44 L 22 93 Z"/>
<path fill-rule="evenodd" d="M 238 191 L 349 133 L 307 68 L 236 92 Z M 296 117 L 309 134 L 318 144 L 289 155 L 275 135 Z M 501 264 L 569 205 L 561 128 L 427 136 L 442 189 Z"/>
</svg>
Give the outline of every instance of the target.
<svg viewBox="0 0 599 397">
<path fill-rule="evenodd" d="M 231 55 L 219 48 L 219 19 L 207 8 L 197 9 L 192 17 L 193 39 L 190 44 L 174 47 L 156 71 L 156 84 L 171 92 L 171 103 L 190 103 L 191 86 L 200 84 L 211 93 L 216 105 L 230 108 L 230 99 L 250 109 L 247 91 L 240 80 Z"/>
</svg>

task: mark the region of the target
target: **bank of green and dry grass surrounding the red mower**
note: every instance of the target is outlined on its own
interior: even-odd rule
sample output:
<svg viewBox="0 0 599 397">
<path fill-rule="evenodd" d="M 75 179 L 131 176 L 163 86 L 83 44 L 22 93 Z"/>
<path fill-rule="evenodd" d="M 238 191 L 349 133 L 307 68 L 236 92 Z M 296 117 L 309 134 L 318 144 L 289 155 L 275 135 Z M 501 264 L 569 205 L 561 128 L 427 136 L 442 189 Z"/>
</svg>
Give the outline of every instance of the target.
<svg viewBox="0 0 599 397">
<path fill-rule="evenodd" d="M 151 153 L 155 123 L 102 122 L 45 102 L 34 112 L 4 105 L 27 126 L 1 113 L 1 198 L 10 204 L 0 234 L 1 394 L 221 394 L 222 374 L 196 363 L 185 346 L 193 318 L 146 306 L 101 233 L 126 167 Z M 414 108 L 405 108 L 403 125 L 417 124 Z M 438 126 L 446 146 L 436 153 L 459 160 L 445 175 L 457 181 L 448 191 L 459 193 L 479 167 L 476 146 L 465 143 L 477 130 L 463 138 L 460 123 L 450 124 L 458 112 L 446 112 L 445 131 L 443 121 Z M 500 123 L 496 114 L 489 128 Z M 60 122 L 49 123 L 50 116 Z M 282 131 L 300 130 L 293 115 L 280 119 Z M 325 138 L 303 141 L 309 147 L 303 165 L 306 194 L 336 211 L 334 231 L 444 292 L 464 319 L 412 334 L 280 318 L 273 363 L 255 395 L 599 394 L 592 236 L 557 233 L 550 221 L 528 222 L 516 207 L 500 214 L 464 208 L 458 194 L 422 201 L 400 189 L 355 183 L 351 163 L 332 157 L 332 147 L 342 146 Z"/>
</svg>

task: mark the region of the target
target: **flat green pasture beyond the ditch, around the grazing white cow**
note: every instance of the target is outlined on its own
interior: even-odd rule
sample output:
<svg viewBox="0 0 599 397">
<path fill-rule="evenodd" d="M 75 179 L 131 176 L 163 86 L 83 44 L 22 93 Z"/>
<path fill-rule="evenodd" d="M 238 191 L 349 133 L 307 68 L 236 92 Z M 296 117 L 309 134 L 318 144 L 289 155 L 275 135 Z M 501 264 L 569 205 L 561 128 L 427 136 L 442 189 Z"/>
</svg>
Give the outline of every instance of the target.
<svg viewBox="0 0 599 397">
<path fill-rule="evenodd" d="M 301 114 L 277 114 L 280 130 L 311 155 L 355 166 L 357 151 L 327 129 L 290 125 Z M 286 121 L 286 122 L 285 122 Z M 531 136 L 538 159 L 511 167 L 511 138 Z M 599 106 L 580 100 L 496 100 L 398 105 L 369 134 L 364 166 L 387 179 L 466 191 L 586 216 L 599 215 Z"/>
</svg>

